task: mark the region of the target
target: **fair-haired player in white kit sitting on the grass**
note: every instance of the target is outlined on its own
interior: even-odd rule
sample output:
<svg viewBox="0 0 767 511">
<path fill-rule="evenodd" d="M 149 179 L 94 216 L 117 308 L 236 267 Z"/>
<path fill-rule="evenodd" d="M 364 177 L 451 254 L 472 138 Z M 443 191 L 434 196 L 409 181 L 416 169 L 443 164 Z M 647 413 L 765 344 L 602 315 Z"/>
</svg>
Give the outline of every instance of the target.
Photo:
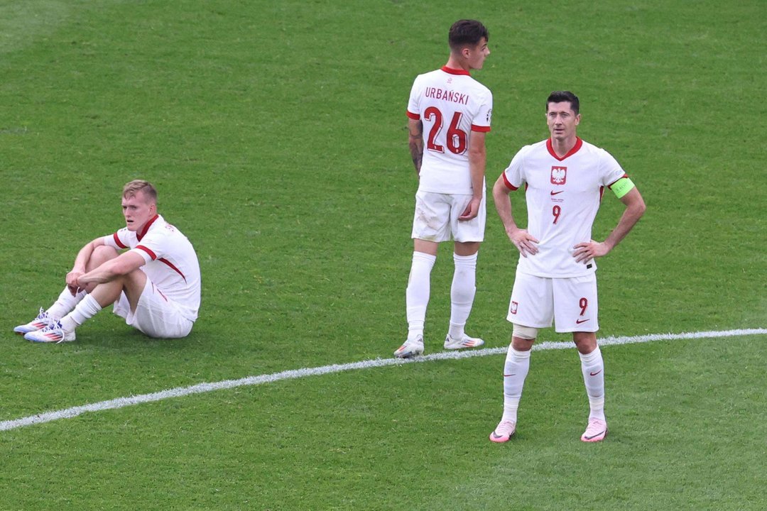
<svg viewBox="0 0 767 511">
<path fill-rule="evenodd" d="M 14 332 L 33 342 L 74 341 L 74 330 L 102 307 L 150 337 L 189 335 L 197 319 L 197 254 L 181 231 L 157 214 L 157 192 L 146 181 L 123 188 L 126 227 L 97 237 L 77 253 L 67 286 L 48 309 Z M 128 249 L 118 254 L 121 249 Z"/>
</svg>

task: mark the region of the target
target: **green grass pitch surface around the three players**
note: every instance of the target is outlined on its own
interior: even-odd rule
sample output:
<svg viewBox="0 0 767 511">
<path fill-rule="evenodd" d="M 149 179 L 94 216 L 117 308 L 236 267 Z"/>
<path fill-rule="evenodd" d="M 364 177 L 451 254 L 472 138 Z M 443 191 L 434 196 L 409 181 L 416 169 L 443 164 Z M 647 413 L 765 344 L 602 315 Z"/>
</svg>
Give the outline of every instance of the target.
<svg viewBox="0 0 767 511">
<path fill-rule="evenodd" d="M 545 96 L 648 211 L 600 261 L 601 334 L 763 327 L 761 2 L 0 2 L 0 419 L 388 357 L 403 339 L 416 181 L 407 94 L 446 30 L 486 21 L 492 182 L 546 136 Z M 754 172 L 753 169 L 757 169 Z M 66 346 L 10 331 L 150 179 L 196 245 L 193 335 L 107 313 Z M 522 215 L 521 195 L 514 195 Z M 606 195 L 594 236 L 621 205 Z M 489 204 L 469 332 L 508 342 L 515 255 Z M 426 351 L 441 349 L 439 252 Z M 542 340 L 565 340 L 554 332 Z M 518 437 L 487 434 L 502 357 L 239 388 L 2 433 L 8 509 L 763 509 L 764 336 L 604 350 L 604 444 L 578 441 L 574 352 L 536 352 Z"/>
</svg>

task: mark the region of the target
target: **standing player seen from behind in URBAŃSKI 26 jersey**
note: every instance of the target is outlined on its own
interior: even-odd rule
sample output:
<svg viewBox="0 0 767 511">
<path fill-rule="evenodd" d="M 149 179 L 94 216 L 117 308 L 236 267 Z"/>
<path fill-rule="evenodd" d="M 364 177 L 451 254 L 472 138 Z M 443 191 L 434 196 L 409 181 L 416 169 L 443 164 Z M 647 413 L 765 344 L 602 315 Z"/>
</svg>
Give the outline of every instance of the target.
<svg viewBox="0 0 767 511">
<path fill-rule="evenodd" d="M 450 28 L 450 57 L 438 70 L 416 77 L 407 105 L 410 153 L 419 184 L 413 218 L 413 264 L 407 283 L 407 340 L 394 355 L 423 354 L 423 323 L 430 275 L 442 241 L 454 241 L 450 326 L 445 349 L 475 348 L 482 339 L 464 326 L 476 292 L 476 260 L 485 235 L 485 134 L 492 93 L 469 75 L 490 54 L 489 34 L 475 20 Z"/>
</svg>

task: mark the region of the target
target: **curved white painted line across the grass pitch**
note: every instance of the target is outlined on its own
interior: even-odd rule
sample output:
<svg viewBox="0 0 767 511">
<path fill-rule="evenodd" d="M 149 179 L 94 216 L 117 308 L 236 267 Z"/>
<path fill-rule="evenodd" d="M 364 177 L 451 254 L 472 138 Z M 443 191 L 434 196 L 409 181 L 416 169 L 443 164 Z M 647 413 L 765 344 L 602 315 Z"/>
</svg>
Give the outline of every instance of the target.
<svg viewBox="0 0 767 511">
<path fill-rule="evenodd" d="M 649 334 L 647 336 L 605 337 L 604 339 L 599 339 L 599 346 L 615 346 L 620 344 L 632 344 L 636 342 L 673 341 L 676 339 L 712 339 L 720 337 L 753 336 L 763 334 L 767 334 L 767 329 L 759 328 L 721 331 L 715 330 L 709 332 Z M 539 344 L 535 344 L 532 349 L 534 351 L 539 351 L 544 349 L 571 349 L 573 347 L 573 343 L 569 341 L 541 342 Z M 170 388 L 168 390 L 153 392 L 151 394 L 134 395 L 130 396 L 129 398 L 110 399 L 109 401 L 99 401 L 97 403 L 91 403 L 90 405 L 74 406 L 72 408 L 65 408 L 64 410 L 46 411 L 41 414 L 29 415 L 28 417 L 13 419 L 11 421 L 2 421 L 0 422 L 0 431 L 8 431 L 16 429 L 17 427 L 31 426 L 32 424 L 42 424 L 44 422 L 77 417 L 77 415 L 84 414 L 87 411 L 114 410 L 131 405 L 140 405 L 141 403 L 151 403 L 153 401 L 161 401 L 163 399 L 169 398 L 181 398 L 186 395 L 201 394 L 202 392 L 210 392 L 226 388 L 243 387 L 245 385 L 264 385 L 266 383 L 279 382 L 281 380 L 328 375 L 334 372 L 353 371 L 354 369 L 371 369 L 377 367 L 385 367 L 387 365 L 405 365 L 420 362 L 432 362 L 433 360 L 456 360 L 487 355 L 500 355 L 506 351 L 507 348 L 502 347 L 476 349 L 472 351 L 438 352 L 434 353 L 433 355 L 416 357 L 415 359 L 402 360 L 391 358 L 363 360 L 361 362 L 350 362 L 347 364 L 332 364 L 323 365 L 321 367 L 291 369 L 288 371 L 275 372 L 271 375 L 248 376 L 246 378 L 239 378 L 237 380 L 224 380 L 222 382 L 214 383 L 199 383 L 190 387 Z"/>
</svg>

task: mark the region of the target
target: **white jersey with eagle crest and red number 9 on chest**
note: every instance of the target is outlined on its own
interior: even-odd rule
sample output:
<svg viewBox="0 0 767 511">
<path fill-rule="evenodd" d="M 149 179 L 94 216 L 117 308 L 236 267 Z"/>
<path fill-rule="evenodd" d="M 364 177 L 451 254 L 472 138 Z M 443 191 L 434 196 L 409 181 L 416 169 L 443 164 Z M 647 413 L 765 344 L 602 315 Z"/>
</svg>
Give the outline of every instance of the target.
<svg viewBox="0 0 767 511">
<path fill-rule="evenodd" d="M 503 171 L 512 190 L 525 185 L 527 230 L 538 241 L 538 254 L 519 257 L 518 269 L 538 277 L 578 277 L 597 270 L 594 260 L 575 262 L 574 246 L 591 241 L 605 186 L 626 173 L 604 149 L 580 138 L 564 158 L 551 139 L 525 146 Z"/>
</svg>

